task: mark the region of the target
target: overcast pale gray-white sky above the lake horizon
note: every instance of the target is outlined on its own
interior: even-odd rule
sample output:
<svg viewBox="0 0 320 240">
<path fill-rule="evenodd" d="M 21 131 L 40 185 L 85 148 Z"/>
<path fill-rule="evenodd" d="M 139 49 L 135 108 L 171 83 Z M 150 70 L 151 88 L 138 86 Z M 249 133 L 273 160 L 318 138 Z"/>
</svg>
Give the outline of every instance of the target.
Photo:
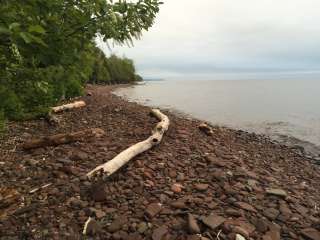
<svg viewBox="0 0 320 240">
<path fill-rule="evenodd" d="M 319 11 L 319 0 L 164 0 L 134 47 L 112 51 L 146 77 L 320 70 Z"/>
</svg>

